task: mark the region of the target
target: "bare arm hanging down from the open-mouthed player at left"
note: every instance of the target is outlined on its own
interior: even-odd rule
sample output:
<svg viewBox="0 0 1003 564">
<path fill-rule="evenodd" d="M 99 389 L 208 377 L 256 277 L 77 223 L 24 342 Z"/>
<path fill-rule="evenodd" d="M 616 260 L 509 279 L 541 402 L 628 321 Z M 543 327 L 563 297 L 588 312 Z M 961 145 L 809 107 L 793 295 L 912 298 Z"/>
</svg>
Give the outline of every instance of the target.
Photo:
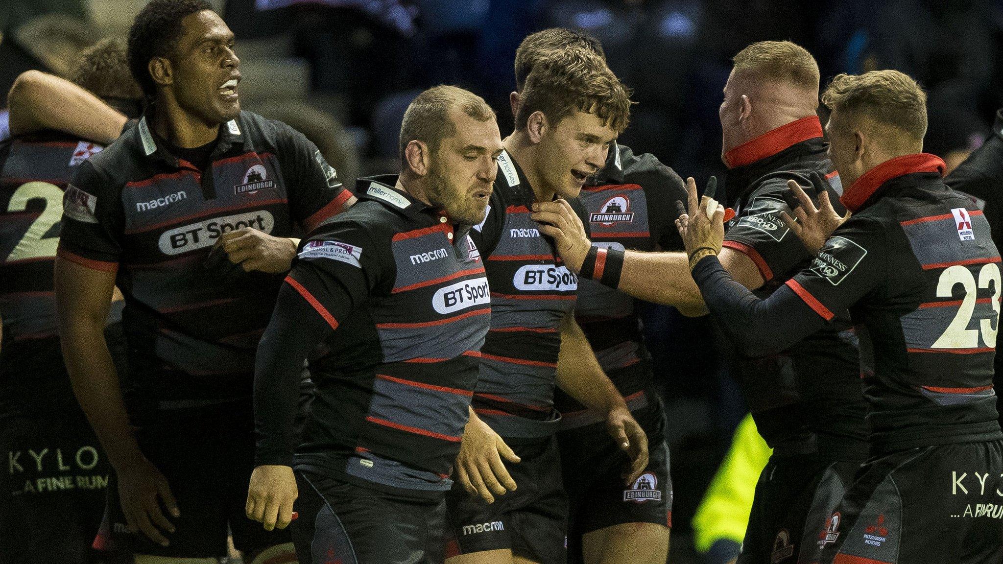
<svg viewBox="0 0 1003 564">
<path fill-rule="evenodd" d="M 160 502 L 180 515 L 166 479 L 143 457 L 129 426 L 118 375 L 104 340 L 115 273 L 55 259 L 56 312 L 63 358 L 73 392 L 118 478 L 122 512 L 133 531 L 168 545 L 175 527 Z M 157 500 L 159 498 L 159 501 Z"/>
</svg>

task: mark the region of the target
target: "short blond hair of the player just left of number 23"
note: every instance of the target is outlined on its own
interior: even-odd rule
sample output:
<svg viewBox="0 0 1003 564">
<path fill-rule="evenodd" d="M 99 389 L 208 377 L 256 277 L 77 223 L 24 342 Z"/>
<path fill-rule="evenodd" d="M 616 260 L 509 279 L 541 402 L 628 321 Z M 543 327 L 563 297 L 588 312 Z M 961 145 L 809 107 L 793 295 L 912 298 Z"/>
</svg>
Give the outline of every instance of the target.
<svg viewBox="0 0 1003 564">
<path fill-rule="evenodd" d="M 732 57 L 735 74 L 749 74 L 818 89 L 818 63 L 804 47 L 790 41 L 759 41 Z"/>
</svg>

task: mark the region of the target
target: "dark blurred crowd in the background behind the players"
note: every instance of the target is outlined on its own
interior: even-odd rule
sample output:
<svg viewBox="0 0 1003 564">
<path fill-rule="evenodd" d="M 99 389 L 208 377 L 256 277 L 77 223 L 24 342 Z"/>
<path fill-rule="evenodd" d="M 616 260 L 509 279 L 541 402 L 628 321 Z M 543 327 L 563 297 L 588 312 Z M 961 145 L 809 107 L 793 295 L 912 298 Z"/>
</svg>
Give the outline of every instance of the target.
<svg viewBox="0 0 1003 564">
<path fill-rule="evenodd" d="M 949 168 L 990 132 L 1003 106 L 1003 2 L 994 0 L 217 0 L 237 34 L 246 109 L 313 140 L 349 185 L 396 172 L 400 119 L 439 83 L 481 94 L 512 120 L 516 48 L 552 26 L 600 39 L 634 89 L 621 139 L 682 177 L 720 175 L 717 108 L 730 58 L 754 41 L 789 39 L 840 72 L 895 68 L 929 93 L 925 150 Z M 82 48 L 122 36 L 141 0 L 4 0 L 0 107 L 18 74 L 65 74 Z M 0 113 L 0 132 L 5 118 Z M 669 205 L 669 203 L 666 203 Z M 668 406 L 675 492 L 674 561 L 704 489 L 746 408 L 722 361 L 695 356 L 708 318 L 652 306 L 650 350 Z"/>
</svg>

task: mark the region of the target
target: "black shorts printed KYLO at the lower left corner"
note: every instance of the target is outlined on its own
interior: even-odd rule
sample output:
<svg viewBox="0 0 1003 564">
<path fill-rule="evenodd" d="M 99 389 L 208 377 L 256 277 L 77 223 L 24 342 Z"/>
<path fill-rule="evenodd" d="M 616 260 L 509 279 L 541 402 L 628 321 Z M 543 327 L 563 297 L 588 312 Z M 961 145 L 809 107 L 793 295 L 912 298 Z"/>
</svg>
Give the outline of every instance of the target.
<svg viewBox="0 0 1003 564">
<path fill-rule="evenodd" d="M 5 419 L 0 456 L 0 562 L 88 562 L 109 467 L 83 414 Z"/>
</svg>

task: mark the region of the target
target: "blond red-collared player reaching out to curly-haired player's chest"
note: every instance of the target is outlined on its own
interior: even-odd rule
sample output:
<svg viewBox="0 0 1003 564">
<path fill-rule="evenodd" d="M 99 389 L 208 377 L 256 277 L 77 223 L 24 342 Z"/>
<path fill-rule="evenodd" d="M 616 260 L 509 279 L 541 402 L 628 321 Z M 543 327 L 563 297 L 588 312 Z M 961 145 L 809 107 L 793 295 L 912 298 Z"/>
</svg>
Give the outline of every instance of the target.
<svg viewBox="0 0 1003 564">
<path fill-rule="evenodd" d="M 835 194 L 841 185 L 815 115 L 818 67 L 811 55 L 789 41 L 763 41 L 733 60 L 719 114 L 727 193 L 737 216 L 721 262 L 746 288 L 768 296 L 811 259 L 782 219 L 791 211 L 787 181 L 796 180 L 812 198 Z M 590 250 L 566 205 L 541 208 L 550 209 L 535 217 L 562 226 L 544 229 L 559 237 L 569 266 L 585 277 L 649 301 L 702 307 L 685 254 Z M 739 562 L 807 561 L 813 531 L 867 457 L 859 355 L 848 315 L 837 313 L 835 322 L 788 350 L 737 351 L 743 394 L 773 449 L 756 486 Z M 817 378 L 819 371 L 826 377 Z"/>
</svg>

